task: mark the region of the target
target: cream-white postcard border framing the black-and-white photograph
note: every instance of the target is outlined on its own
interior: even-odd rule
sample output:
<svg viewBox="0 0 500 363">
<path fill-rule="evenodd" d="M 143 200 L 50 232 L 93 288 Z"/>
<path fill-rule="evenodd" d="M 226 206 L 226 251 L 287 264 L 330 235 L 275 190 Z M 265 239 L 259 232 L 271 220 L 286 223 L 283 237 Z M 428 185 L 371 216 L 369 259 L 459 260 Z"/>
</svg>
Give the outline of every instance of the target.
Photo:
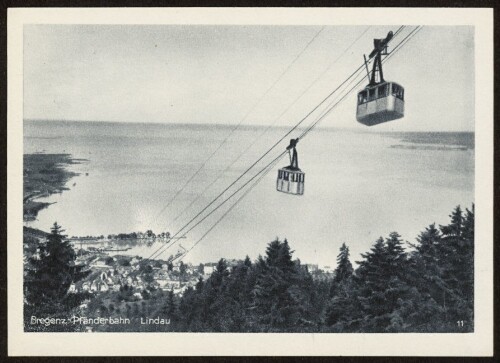
<svg viewBox="0 0 500 363">
<path fill-rule="evenodd" d="M 8 354 L 13 356 L 493 354 L 493 9 L 8 9 Z M 25 333 L 23 331 L 23 25 L 279 24 L 475 27 L 475 328 L 465 334 Z M 436 57 L 439 55 L 436 54 Z M 460 70 L 457 70 L 460 72 Z"/>
</svg>

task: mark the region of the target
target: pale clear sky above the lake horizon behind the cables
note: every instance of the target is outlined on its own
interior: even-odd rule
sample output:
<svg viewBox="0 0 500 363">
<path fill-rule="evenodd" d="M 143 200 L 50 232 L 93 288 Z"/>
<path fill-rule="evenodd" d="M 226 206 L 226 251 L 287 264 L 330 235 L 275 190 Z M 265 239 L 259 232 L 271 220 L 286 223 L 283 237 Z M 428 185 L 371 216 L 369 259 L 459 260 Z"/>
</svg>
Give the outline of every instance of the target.
<svg viewBox="0 0 500 363">
<path fill-rule="evenodd" d="M 26 25 L 24 118 L 294 125 L 396 29 Z M 405 88 L 405 117 L 377 131 L 474 131 L 473 27 L 424 27 L 384 76 Z M 320 125 L 374 129 L 355 113 L 352 92 Z"/>
</svg>

